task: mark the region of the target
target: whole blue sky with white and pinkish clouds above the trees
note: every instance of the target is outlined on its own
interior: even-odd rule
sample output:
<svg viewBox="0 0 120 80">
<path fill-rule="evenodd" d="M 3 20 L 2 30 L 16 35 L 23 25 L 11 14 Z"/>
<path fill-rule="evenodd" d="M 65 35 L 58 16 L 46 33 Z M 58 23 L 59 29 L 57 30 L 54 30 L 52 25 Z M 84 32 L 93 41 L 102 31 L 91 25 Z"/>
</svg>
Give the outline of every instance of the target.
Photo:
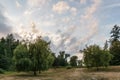
<svg viewBox="0 0 120 80">
<path fill-rule="evenodd" d="M 82 56 L 85 45 L 103 47 L 119 16 L 120 0 L 0 0 L 0 37 L 42 36 L 53 52 Z"/>
</svg>

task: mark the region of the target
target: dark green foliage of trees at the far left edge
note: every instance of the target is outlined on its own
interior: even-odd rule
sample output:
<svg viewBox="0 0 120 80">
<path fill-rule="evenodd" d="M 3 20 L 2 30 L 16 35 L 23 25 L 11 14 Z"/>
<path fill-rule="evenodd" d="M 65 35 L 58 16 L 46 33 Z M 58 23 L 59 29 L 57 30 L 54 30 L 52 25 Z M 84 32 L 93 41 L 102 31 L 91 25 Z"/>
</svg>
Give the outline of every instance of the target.
<svg viewBox="0 0 120 80">
<path fill-rule="evenodd" d="M 8 34 L 6 38 L 0 39 L 0 68 L 9 70 L 12 64 L 13 50 L 19 44 L 12 34 Z"/>
</svg>

